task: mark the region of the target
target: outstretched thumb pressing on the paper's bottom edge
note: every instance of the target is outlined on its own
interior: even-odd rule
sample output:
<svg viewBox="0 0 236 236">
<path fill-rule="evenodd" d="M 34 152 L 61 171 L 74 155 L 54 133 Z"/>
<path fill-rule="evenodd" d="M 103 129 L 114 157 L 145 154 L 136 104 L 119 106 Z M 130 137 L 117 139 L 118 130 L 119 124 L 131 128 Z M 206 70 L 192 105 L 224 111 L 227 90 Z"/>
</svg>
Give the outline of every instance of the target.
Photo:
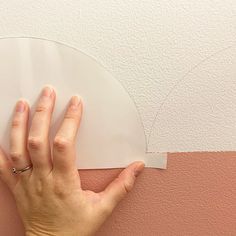
<svg viewBox="0 0 236 236">
<path fill-rule="evenodd" d="M 124 169 L 106 189 L 101 192 L 104 206 L 112 211 L 134 186 L 137 176 L 144 169 L 144 163 L 136 161 Z"/>
</svg>

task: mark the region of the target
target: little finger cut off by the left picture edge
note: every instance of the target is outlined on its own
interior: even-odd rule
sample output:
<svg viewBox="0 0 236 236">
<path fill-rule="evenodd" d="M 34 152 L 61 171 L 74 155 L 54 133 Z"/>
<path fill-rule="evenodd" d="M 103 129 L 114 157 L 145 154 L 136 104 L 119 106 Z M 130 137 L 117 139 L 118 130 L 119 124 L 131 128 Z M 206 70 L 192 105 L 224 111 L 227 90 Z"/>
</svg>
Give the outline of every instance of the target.
<svg viewBox="0 0 236 236">
<path fill-rule="evenodd" d="M 17 178 L 12 173 L 12 166 L 6 155 L 0 148 L 0 178 L 7 184 L 12 190 L 16 185 Z"/>
</svg>

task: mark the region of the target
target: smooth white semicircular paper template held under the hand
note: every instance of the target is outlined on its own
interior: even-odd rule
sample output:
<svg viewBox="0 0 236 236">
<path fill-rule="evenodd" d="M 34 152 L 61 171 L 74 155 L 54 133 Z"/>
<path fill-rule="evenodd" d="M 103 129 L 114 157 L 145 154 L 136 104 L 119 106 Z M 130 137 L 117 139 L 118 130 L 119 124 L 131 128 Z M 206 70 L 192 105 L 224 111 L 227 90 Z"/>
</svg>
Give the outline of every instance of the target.
<svg viewBox="0 0 236 236">
<path fill-rule="evenodd" d="M 78 168 L 125 167 L 136 160 L 147 167 L 166 168 L 166 153 L 147 155 L 141 119 L 121 84 L 87 55 L 40 39 L 0 40 L 0 138 L 5 149 L 17 99 L 24 97 L 33 105 L 45 84 L 57 92 L 51 140 L 70 97 L 83 98 Z"/>
</svg>

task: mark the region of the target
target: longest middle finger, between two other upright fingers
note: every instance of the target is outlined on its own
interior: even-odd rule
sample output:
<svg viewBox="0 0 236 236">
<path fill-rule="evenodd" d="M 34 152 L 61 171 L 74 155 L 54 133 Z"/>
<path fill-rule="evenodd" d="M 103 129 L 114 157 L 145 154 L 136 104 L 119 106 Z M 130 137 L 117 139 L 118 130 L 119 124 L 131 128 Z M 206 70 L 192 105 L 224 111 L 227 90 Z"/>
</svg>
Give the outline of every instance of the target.
<svg viewBox="0 0 236 236">
<path fill-rule="evenodd" d="M 50 172 L 52 169 L 49 128 L 55 96 L 52 87 L 47 86 L 43 89 L 29 131 L 28 151 L 33 163 L 33 170 L 42 174 Z"/>
</svg>

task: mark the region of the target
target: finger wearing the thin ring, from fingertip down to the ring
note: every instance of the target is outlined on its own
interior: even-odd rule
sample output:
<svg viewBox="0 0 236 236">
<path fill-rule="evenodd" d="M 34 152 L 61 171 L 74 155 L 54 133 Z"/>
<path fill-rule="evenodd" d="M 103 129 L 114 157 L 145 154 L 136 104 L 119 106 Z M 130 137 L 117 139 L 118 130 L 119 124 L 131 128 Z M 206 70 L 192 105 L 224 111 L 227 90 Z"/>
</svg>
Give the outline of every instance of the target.
<svg viewBox="0 0 236 236">
<path fill-rule="evenodd" d="M 18 101 L 13 114 L 10 131 L 10 157 L 13 167 L 16 169 L 22 169 L 31 165 L 26 148 L 28 115 L 28 104 L 23 100 Z"/>
</svg>

